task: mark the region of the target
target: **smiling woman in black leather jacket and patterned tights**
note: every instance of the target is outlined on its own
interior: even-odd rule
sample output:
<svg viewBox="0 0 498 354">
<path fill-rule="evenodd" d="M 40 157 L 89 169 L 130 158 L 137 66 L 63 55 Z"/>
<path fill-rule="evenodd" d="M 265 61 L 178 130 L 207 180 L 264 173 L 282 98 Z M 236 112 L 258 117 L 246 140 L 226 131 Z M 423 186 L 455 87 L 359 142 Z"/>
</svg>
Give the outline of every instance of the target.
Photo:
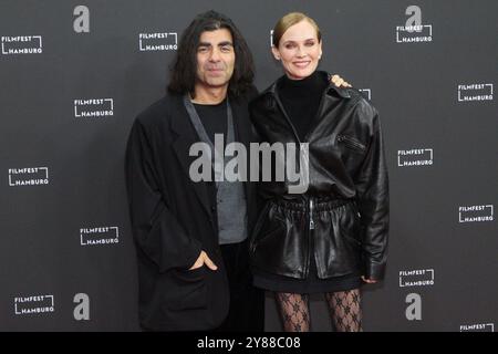
<svg viewBox="0 0 498 354">
<path fill-rule="evenodd" d="M 317 23 L 293 12 L 273 29 L 284 75 L 251 104 L 261 139 L 308 143 L 305 192 L 261 183 L 266 201 L 251 238 L 255 284 L 273 291 L 286 331 L 309 331 L 309 294 L 324 293 L 336 331 L 361 331 L 362 282 L 384 275 L 388 181 L 376 110 L 317 71 Z M 298 149 L 299 150 L 299 149 Z M 298 159 L 299 160 L 299 159 Z"/>
</svg>

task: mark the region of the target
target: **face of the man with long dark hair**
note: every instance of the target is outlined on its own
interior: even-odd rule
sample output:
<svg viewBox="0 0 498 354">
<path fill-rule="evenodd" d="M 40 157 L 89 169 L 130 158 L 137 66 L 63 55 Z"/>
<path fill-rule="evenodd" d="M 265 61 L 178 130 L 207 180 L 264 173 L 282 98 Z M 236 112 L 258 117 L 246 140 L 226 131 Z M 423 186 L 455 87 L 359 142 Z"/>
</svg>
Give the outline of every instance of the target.
<svg viewBox="0 0 498 354">
<path fill-rule="evenodd" d="M 228 86 L 235 65 L 230 31 L 219 29 L 200 34 L 197 48 L 197 84 L 208 87 Z"/>
</svg>

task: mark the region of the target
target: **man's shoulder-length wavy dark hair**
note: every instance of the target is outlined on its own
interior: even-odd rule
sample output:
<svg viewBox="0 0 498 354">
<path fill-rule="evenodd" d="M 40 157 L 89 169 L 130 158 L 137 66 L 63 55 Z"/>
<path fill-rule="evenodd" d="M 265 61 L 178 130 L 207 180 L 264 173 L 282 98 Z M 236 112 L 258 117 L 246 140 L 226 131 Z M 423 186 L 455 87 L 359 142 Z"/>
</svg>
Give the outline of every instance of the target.
<svg viewBox="0 0 498 354">
<path fill-rule="evenodd" d="M 207 11 L 198 14 L 181 34 L 168 84 L 170 93 L 190 93 L 194 97 L 197 77 L 197 46 L 200 34 L 219 29 L 230 31 L 234 40 L 235 67 L 228 84 L 228 93 L 232 97 L 239 97 L 252 86 L 255 64 L 246 40 L 229 18 L 216 11 Z"/>
</svg>

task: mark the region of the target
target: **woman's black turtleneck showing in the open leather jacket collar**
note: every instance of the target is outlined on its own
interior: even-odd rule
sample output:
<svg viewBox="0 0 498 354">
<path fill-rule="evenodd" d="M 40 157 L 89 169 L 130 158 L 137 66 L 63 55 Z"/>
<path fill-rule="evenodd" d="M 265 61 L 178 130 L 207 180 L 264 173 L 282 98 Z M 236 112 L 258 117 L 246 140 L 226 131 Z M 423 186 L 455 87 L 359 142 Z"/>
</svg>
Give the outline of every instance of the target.
<svg viewBox="0 0 498 354">
<path fill-rule="evenodd" d="M 301 142 L 314 119 L 323 91 L 329 85 L 328 76 L 315 71 L 302 80 L 291 80 L 284 75 L 278 83 L 283 108 L 298 132 Z"/>
</svg>

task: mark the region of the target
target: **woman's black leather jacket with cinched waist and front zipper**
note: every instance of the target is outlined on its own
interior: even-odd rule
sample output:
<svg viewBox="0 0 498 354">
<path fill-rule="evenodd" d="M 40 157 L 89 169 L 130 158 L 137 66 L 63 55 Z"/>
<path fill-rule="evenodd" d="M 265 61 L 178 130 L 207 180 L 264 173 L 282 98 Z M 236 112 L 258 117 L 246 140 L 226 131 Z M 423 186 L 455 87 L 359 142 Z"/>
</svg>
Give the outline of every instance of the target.
<svg viewBox="0 0 498 354">
<path fill-rule="evenodd" d="M 249 110 L 262 142 L 303 143 L 279 100 L 277 82 Z M 310 180 L 304 194 L 289 194 L 287 180 L 260 183 L 266 205 L 251 237 L 253 267 L 303 279 L 314 254 L 320 278 L 357 273 L 382 279 L 388 178 L 377 111 L 357 90 L 330 84 L 305 142 Z"/>
</svg>

